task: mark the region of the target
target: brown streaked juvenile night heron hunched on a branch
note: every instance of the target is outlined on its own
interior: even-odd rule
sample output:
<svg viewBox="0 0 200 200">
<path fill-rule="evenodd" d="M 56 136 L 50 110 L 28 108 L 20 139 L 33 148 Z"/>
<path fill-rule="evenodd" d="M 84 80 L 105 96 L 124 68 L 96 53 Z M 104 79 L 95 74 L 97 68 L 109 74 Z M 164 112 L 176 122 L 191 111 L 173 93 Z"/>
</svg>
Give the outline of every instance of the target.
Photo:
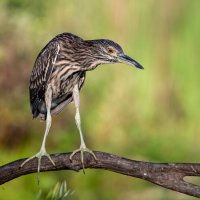
<svg viewBox="0 0 200 200">
<path fill-rule="evenodd" d="M 138 62 L 125 55 L 117 43 L 106 39 L 83 40 L 71 33 L 62 33 L 42 49 L 32 70 L 29 90 L 33 117 L 39 116 L 41 120 L 46 120 L 46 130 L 40 151 L 25 160 L 21 166 L 36 157 L 39 172 L 42 156 L 47 156 L 55 165 L 45 148 L 51 126 L 51 115 L 62 111 L 70 102 L 75 104 L 75 121 L 81 139 L 80 148 L 71 154 L 70 159 L 80 152 L 83 167 L 84 152 L 90 153 L 96 159 L 83 139 L 79 92 L 85 81 L 86 72 L 107 63 L 126 63 L 143 69 Z"/>
</svg>

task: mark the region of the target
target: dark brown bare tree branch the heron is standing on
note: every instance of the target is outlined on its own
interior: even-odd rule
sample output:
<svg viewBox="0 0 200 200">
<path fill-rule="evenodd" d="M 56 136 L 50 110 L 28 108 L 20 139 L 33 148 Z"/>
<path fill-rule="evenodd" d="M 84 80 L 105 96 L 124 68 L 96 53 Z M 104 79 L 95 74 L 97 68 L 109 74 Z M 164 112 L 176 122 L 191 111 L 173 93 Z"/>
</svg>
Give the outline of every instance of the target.
<svg viewBox="0 0 200 200">
<path fill-rule="evenodd" d="M 162 187 L 175 190 L 194 197 L 200 197 L 200 186 L 183 180 L 185 176 L 200 176 L 200 164 L 195 163 L 151 163 L 129 160 L 116 155 L 94 152 L 98 161 L 85 153 L 85 168 L 96 168 L 133 176 L 150 181 Z M 52 154 L 56 166 L 46 158 L 42 158 L 41 172 L 56 170 L 82 169 L 80 154 L 69 160 L 70 153 Z M 25 159 L 16 160 L 0 167 L 0 184 L 4 184 L 22 175 L 37 172 L 37 159 L 33 159 L 20 167 Z"/>
</svg>

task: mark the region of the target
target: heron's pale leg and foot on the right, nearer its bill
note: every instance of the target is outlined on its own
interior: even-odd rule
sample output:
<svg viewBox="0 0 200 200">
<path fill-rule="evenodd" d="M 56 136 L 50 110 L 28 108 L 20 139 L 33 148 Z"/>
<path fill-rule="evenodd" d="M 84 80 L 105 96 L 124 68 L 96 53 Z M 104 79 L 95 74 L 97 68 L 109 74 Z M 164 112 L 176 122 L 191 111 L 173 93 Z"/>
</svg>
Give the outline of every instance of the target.
<svg viewBox="0 0 200 200">
<path fill-rule="evenodd" d="M 73 100 L 74 100 L 74 104 L 75 104 L 75 108 L 76 108 L 76 115 L 75 115 L 75 121 L 76 121 L 76 125 L 80 134 L 80 139 L 81 139 L 81 145 L 80 148 L 73 151 L 73 153 L 70 155 L 70 160 L 72 160 L 73 156 L 80 151 L 81 153 L 81 163 L 83 165 L 83 169 L 84 169 L 84 156 L 83 153 L 84 152 L 88 152 L 90 153 L 95 160 L 97 160 L 95 154 L 86 147 L 85 145 L 85 141 L 83 139 L 83 133 L 81 130 L 81 118 L 80 118 L 80 112 L 79 112 L 79 107 L 80 107 L 80 100 L 79 100 L 79 88 L 78 88 L 78 84 L 75 85 L 74 89 L 73 89 Z"/>
</svg>

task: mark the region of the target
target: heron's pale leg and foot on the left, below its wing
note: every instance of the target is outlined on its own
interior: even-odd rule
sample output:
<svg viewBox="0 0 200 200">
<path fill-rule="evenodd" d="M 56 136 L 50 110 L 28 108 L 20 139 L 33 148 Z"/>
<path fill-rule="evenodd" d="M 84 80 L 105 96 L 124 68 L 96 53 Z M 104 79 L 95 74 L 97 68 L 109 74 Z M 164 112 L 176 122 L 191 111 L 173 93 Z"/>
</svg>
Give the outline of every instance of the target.
<svg viewBox="0 0 200 200">
<path fill-rule="evenodd" d="M 42 145 L 41 145 L 40 151 L 37 154 L 33 155 L 32 157 L 26 159 L 21 164 L 21 167 L 23 167 L 27 162 L 29 162 L 33 158 L 38 158 L 38 173 L 40 172 L 40 166 L 41 166 L 41 158 L 42 158 L 42 156 L 46 156 L 51 161 L 51 163 L 53 165 L 55 165 L 55 163 L 51 159 L 50 155 L 46 152 L 46 148 L 45 148 L 47 135 L 48 135 L 49 129 L 51 127 L 51 113 L 50 113 L 51 100 L 52 100 L 52 89 L 49 86 L 47 88 L 47 90 L 46 90 L 46 93 L 45 93 L 45 102 L 46 102 L 46 109 L 47 109 L 46 129 L 45 129 L 45 134 L 44 134 L 44 138 L 43 138 L 43 141 L 42 141 Z M 39 183 L 39 176 L 38 176 L 38 183 Z"/>
</svg>

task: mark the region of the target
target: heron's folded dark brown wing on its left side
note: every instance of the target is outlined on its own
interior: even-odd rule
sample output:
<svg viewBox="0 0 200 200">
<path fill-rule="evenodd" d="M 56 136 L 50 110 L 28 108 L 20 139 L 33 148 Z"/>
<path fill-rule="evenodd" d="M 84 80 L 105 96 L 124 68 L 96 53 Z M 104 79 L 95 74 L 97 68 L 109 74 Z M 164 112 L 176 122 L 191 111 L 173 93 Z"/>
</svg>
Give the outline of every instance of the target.
<svg viewBox="0 0 200 200">
<path fill-rule="evenodd" d="M 39 115 L 38 106 L 44 102 L 47 83 L 60 51 L 56 40 L 50 41 L 38 55 L 30 78 L 30 104 L 33 117 Z"/>
</svg>

